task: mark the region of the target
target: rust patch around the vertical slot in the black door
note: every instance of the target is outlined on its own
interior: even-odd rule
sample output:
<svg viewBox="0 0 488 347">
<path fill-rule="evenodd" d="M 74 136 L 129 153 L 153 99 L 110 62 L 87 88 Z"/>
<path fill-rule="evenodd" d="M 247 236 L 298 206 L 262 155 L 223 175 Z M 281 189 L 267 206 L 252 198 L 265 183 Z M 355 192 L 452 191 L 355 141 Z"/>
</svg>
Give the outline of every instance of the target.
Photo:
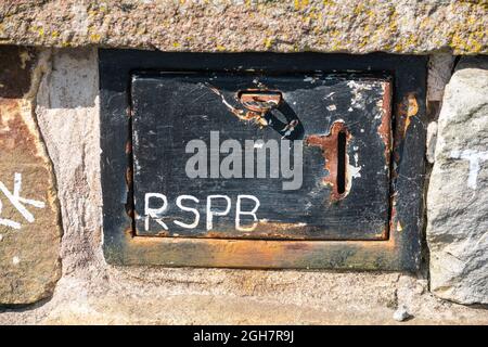
<svg viewBox="0 0 488 347">
<path fill-rule="evenodd" d="M 325 159 L 324 168 L 329 172 L 329 175 L 322 179 L 322 182 L 325 185 L 332 187 L 331 192 L 332 202 L 336 202 L 344 198 L 348 193 L 348 190 L 346 190 L 343 193 L 339 193 L 337 189 L 338 134 L 341 132 L 344 132 L 346 134 L 346 149 L 347 149 L 347 144 L 351 138 L 351 134 L 349 130 L 347 130 L 347 127 L 344 124 L 344 121 L 342 120 L 337 120 L 332 125 L 330 133 L 328 136 L 311 134 L 307 137 L 307 139 L 305 140 L 307 145 L 319 146 L 322 150 L 322 155 Z M 348 163 L 349 158 L 346 151 L 346 158 L 345 158 L 346 187 L 350 187 L 349 184 L 350 177 L 348 175 Z"/>
</svg>

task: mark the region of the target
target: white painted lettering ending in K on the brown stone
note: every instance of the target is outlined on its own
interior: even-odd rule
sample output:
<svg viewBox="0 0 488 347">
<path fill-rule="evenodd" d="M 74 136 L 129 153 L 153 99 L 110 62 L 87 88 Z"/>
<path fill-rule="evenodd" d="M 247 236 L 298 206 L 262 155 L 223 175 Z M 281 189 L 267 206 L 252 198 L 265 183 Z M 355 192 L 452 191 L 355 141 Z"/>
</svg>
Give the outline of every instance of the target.
<svg viewBox="0 0 488 347">
<path fill-rule="evenodd" d="M 15 172 L 14 175 L 14 189 L 11 192 L 2 181 L 0 181 L 0 191 L 7 197 L 7 200 L 17 209 L 17 211 L 24 217 L 29 223 L 35 221 L 34 215 L 25 207 L 25 205 L 31 205 L 37 208 L 44 208 L 46 204 L 36 200 L 21 197 L 22 189 L 22 175 Z M 12 229 L 21 229 L 22 224 L 18 221 L 1 218 L 3 209 L 3 203 L 0 200 L 0 224 Z"/>
</svg>

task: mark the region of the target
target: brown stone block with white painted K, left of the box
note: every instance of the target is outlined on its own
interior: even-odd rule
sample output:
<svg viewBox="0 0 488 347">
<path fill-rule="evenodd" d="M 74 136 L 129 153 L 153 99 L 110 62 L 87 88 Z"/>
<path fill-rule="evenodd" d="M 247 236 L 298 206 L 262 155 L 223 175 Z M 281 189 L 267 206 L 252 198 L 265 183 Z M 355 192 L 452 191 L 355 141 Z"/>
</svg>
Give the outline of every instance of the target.
<svg viewBox="0 0 488 347">
<path fill-rule="evenodd" d="M 0 304 L 44 298 L 61 275 L 54 176 L 34 116 L 46 64 L 46 54 L 0 47 Z"/>
</svg>

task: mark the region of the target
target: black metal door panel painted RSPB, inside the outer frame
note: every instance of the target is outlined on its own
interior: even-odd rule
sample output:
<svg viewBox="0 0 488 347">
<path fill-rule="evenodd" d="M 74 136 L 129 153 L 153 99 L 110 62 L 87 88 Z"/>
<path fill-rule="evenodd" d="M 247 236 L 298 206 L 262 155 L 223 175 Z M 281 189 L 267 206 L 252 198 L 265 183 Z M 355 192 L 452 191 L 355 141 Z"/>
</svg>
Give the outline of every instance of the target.
<svg viewBox="0 0 488 347">
<path fill-rule="evenodd" d="M 262 118 L 249 117 L 239 100 L 242 90 L 280 92 L 283 101 Z M 132 75 L 131 102 L 137 235 L 387 239 L 387 78 L 141 72 Z M 252 119 L 237 117 L 246 115 Z M 301 170 L 296 167 L 293 178 L 286 178 L 286 159 L 293 164 L 300 145 Z M 267 170 L 257 177 L 257 153 L 267 146 L 273 149 L 266 152 Z M 295 151 L 288 153 L 291 146 Z M 198 164 L 205 157 L 206 170 L 192 170 L 196 152 L 202 155 Z M 246 160 L 249 154 L 253 160 Z M 221 170 L 229 155 L 234 159 L 230 178 Z M 249 166 L 252 175 L 246 172 Z M 177 206 L 179 196 L 184 208 Z M 256 201 L 255 214 L 245 214 Z"/>
</svg>

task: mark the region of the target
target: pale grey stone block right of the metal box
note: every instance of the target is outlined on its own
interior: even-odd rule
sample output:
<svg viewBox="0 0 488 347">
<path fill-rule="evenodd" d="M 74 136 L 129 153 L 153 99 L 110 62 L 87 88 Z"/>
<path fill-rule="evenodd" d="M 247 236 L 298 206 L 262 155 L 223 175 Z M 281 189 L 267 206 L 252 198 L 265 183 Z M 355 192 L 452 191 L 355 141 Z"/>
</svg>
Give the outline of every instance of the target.
<svg viewBox="0 0 488 347">
<path fill-rule="evenodd" d="M 488 304 L 488 59 L 461 60 L 438 120 L 427 194 L 431 288 Z"/>
</svg>

